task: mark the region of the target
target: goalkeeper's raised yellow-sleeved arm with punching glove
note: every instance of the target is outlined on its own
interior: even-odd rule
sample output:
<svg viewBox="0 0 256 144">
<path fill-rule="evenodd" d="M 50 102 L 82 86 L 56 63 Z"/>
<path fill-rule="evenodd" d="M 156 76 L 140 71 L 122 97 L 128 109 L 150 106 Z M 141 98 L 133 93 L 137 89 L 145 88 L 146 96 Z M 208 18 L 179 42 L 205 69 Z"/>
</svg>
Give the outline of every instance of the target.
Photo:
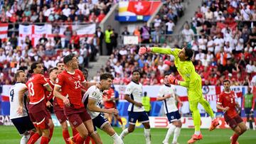
<svg viewBox="0 0 256 144">
<path fill-rule="evenodd" d="M 160 54 L 166 54 L 166 55 L 174 55 L 174 57 L 178 56 L 178 52 L 180 52 L 181 49 L 178 48 L 159 48 L 159 47 L 141 47 L 139 48 L 139 55 L 143 55 L 146 52 L 154 52 L 154 53 L 160 53 Z"/>
</svg>

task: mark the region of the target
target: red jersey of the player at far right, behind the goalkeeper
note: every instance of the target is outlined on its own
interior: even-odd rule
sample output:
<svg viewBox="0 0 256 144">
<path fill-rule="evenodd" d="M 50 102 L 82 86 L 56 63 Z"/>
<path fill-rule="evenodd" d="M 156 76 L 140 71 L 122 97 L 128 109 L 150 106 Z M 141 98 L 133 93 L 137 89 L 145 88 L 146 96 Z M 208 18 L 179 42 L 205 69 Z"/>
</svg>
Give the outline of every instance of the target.
<svg viewBox="0 0 256 144">
<path fill-rule="evenodd" d="M 233 118 L 238 115 L 236 109 L 235 109 L 235 92 L 231 91 L 230 93 L 227 92 L 221 92 L 221 94 L 218 96 L 217 104 L 220 104 L 224 108 L 228 106 L 230 109 L 225 112 L 224 116 L 228 116 L 230 118 Z"/>
</svg>

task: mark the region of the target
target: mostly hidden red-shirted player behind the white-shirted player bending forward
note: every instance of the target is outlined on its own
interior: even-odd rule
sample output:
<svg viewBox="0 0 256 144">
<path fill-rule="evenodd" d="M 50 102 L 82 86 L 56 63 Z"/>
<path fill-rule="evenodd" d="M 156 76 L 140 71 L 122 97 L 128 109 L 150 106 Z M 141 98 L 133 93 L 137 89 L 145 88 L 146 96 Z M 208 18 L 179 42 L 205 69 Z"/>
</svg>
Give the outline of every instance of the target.
<svg viewBox="0 0 256 144">
<path fill-rule="evenodd" d="M 104 107 L 105 109 L 112 109 L 115 108 L 117 109 L 117 106 L 114 102 L 115 98 L 114 98 L 114 86 L 112 85 L 110 89 L 105 90 L 104 94 L 103 94 L 103 101 L 104 101 Z M 110 123 L 112 123 L 112 114 L 109 113 L 105 113 L 105 115 L 107 116 L 107 120 L 110 121 Z M 122 129 L 125 128 L 125 126 L 122 123 L 122 119 L 120 118 L 120 116 L 118 114 L 114 115 L 114 117 L 117 119 L 117 121 L 119 121 L 122 124 Z"/>
</svg>

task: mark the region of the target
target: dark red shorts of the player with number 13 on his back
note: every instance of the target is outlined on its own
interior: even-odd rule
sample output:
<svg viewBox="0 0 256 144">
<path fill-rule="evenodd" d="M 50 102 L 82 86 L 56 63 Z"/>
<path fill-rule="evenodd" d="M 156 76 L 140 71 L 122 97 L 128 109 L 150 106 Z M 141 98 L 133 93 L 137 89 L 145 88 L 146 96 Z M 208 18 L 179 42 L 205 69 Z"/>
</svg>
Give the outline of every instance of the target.
<svg viewBox="0 0 256 144">
<path fill-rule="evenodd" d="M 28 113 L 33 125 L 37 128 L 48 129 L 48 112 L 46 110 L 38 111 L 36 113 Z"/>
</svg>

